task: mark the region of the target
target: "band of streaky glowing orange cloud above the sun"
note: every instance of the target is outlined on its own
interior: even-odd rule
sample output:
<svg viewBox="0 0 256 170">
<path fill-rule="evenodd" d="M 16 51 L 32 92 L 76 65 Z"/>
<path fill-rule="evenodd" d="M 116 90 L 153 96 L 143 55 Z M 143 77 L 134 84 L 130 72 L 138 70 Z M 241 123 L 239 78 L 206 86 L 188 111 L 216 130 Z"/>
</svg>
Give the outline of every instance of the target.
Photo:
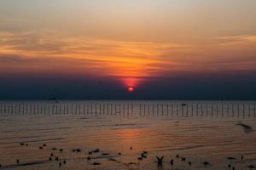
<svg viewBox="0 0 256 170">
<path fill-rule="evenodd" d="M 2 68 L 143 79 L 191 72 L 255 71 L 255 36 L 204 43 L 127 42 L 59 31 L 0 32 Z"/>
</svg>

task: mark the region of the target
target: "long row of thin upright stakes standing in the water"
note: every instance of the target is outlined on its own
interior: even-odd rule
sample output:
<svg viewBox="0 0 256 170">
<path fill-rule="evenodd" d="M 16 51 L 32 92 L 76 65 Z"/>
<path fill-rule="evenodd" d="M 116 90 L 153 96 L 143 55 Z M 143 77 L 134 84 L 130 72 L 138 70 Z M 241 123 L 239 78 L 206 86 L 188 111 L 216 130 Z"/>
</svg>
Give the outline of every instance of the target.
<svg viewBox="0 0 256 170">
<path fill-rule="evenodd" d="M 0 102 L 1 116 L 256 116 L 255 102 Z"/>
</svg>

